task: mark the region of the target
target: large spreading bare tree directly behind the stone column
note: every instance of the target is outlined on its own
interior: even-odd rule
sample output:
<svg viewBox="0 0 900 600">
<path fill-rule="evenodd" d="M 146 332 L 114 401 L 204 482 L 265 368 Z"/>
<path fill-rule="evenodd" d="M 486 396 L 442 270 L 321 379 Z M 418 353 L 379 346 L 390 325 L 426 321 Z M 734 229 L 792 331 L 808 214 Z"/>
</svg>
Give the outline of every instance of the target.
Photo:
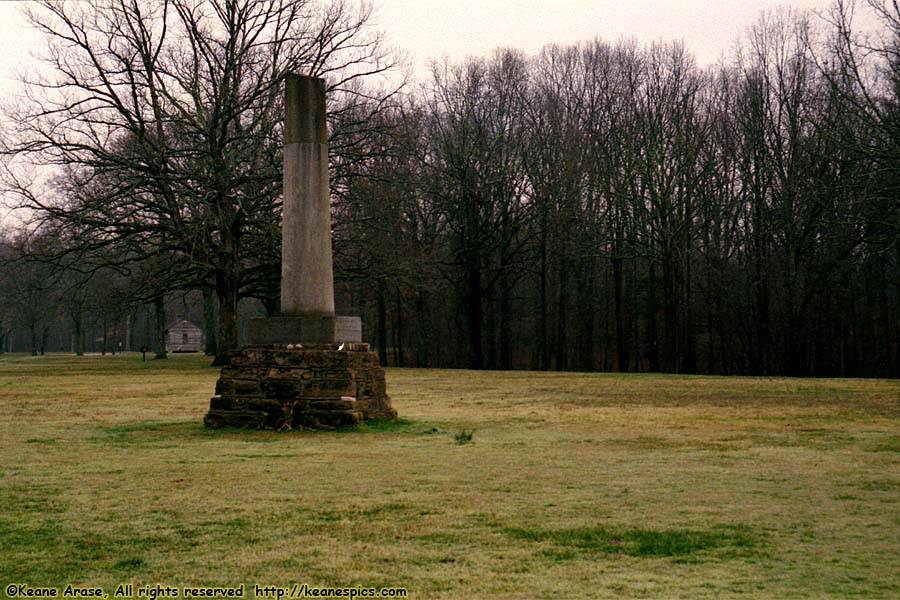
<svg viewBox="0 0 900 600">
<path fill-rule="evenodd" d="M 167 256 L 212 285 L 221 358 L 237 344 L 239 299 L 271 290 L 260 277 L 277 272 L 282 75 L 323 76 L 333 96 L 359 102 L 358 80 L 394 65 L 371 5 L 46 1 L 27 16 L 52 74 L 23 82 L 5 151 L 66 167 L 69 189 L 12 171 L 8 188 L 97 248 Z"/>
</svg>

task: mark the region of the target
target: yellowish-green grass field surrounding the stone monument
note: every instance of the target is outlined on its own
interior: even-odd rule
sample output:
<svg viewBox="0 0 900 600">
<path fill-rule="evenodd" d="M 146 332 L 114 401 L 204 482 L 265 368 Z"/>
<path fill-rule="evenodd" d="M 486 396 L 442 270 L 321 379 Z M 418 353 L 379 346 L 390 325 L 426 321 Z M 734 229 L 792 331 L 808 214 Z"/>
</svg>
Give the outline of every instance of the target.
<svg viewBox="0 0 900 600">
<path fill-rule="evenodd" d="M 900 597 L 898 381 L 390 369 L 401 420 L 275 433 L 207 365 L 0 356 L 4 589 Z"/>
</svg>

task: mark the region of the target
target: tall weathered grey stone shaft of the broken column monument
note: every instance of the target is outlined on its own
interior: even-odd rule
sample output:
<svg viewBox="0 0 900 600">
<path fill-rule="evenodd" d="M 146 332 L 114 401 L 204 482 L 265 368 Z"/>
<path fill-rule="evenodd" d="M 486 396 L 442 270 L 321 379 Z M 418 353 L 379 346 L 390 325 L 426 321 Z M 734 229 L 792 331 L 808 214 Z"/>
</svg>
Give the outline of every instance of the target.
<svg viewBox="0 0 900 600">
<path fill-rule="evenodd" d="M 281 314 L 333 317 L 325 82 L 288 74 L 284 111 Z"/>
</svg>

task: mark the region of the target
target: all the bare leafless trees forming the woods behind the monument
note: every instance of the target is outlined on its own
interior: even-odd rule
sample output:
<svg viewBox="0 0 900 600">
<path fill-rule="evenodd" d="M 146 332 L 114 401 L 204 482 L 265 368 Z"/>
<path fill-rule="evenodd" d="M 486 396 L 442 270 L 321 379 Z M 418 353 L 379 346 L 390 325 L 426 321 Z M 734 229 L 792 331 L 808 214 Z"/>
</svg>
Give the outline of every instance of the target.
<svg viewBox="0 0 900 600">
<path fill-rule="evenodd" d="M 339 312 L 383 363 L 900 375 L 895 4 L 761 15 L 714 66 L 592 40 L 418 87 L 371 7 L 312 7 L 34 11 L 56 79 L 6 106 L 28 218 L 0 248 L 0 336 L 35 349 L 59 323 L 83 350 L 85 322 L 152 312 L 158 340 L 191 298 L 221 358 L 242 311 L 275 314 L 279 78 L 302 71 L 329 87 Z"/>
</svg>

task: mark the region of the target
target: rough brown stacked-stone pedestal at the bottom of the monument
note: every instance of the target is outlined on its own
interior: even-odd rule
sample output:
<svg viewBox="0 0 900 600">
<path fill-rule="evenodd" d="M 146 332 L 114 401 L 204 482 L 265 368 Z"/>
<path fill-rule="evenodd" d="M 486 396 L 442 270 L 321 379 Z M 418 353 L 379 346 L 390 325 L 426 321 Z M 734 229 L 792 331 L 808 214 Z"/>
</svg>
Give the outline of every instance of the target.
<svg viewBox="0 0 900 600">
<path fill-rule="evenodd" d="M 332 429 L 393 419 L 384 370 L 368 344 L 250 345 L 222 369 L 207 427 Z"/>
</svg>

